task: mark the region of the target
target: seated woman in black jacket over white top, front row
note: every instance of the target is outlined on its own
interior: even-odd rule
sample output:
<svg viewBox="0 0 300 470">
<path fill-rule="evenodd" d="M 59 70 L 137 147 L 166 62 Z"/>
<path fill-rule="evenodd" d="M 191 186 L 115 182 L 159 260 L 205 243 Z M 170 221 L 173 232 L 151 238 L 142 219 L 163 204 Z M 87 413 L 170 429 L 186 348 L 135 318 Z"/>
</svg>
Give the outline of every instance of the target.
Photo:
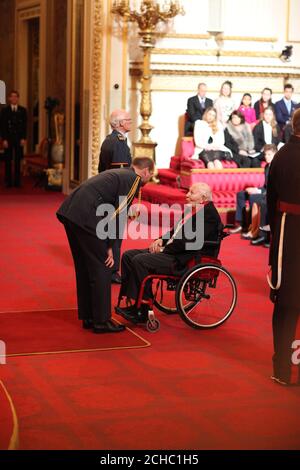
<svg viewBox="0 0 300 470">
<path fill-rule="evenodd" d="M 254 147 L 256 152 L 260 152 L 258 159 L 264 160 L 264 146 L 266 144 L 280 143 L 280 128 L 275 120 L 273 108 L 266 108 L 262 120 L 253 129 Z"/>
</svg>

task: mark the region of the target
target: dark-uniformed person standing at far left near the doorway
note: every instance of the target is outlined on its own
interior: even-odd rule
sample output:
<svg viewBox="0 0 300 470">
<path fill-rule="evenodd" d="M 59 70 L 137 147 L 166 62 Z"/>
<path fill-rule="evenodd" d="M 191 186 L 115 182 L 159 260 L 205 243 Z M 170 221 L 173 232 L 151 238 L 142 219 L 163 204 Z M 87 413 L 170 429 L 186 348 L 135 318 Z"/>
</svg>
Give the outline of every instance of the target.
<svg viewBox="0 0 300 470">
<path fill-rule="evenodd" d="M 9 97 L 9 106 L 1 113 L 0 134 L 5 149 L 5 184 L 13 185 L 12 164 L 14 163 L 14 186 L 21 184 L 21 160 L 27 137 L 27 111 L 19 105 L 19 92 L 13 90 Z"/>
</svg>

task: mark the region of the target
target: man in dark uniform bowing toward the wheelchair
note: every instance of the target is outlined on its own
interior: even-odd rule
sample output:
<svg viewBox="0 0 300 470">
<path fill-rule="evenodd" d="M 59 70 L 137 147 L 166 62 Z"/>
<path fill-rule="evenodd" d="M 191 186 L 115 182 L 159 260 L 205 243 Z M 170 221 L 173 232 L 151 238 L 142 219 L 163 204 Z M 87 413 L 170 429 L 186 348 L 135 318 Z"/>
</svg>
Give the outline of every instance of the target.
<svg viewBox="0 0 300 470">
<path fill-rule="evenodd" d="M 151 158 L 134 158 L 130 168 L 107 170 L 82 183 L 56 213 L 74 260 L 78 316 L 94 333 L 124 330 L 111 320 L 112 247 L 122 236 L 126 209 L 153 173 Z"/>
</svg>

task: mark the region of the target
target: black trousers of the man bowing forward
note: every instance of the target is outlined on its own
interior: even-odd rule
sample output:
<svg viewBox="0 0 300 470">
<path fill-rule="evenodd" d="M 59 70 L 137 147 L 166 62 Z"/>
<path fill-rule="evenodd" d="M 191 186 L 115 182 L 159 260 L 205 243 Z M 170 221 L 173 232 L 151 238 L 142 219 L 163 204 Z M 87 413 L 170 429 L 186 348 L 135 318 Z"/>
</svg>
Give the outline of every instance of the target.
<svg viewBox="0 0 300 470">
<path fill-rule="evenodd" d="M 112 268 L 105 266 L 107 242 L 72 222 L 64 221 L 64 227 L 76 272 L 78 317 L 104 323 L 111 318 Z"/>
</svg>

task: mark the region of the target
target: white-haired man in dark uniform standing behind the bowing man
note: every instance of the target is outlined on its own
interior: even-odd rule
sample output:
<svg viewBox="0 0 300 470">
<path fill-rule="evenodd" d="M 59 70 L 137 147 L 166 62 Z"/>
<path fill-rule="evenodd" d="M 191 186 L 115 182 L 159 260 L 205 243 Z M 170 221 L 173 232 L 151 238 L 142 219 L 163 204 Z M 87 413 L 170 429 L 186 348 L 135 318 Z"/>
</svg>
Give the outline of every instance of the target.
<svg viewBox="0 0 300 470">
<path fill-rule="evenodd" d="M 127 145 L 126 134 L 131 130 L 130 114 L 124 109 L 115 109 L 109 118 L 112 133 L 109 134 L 102 143 L 98 172 L 110 170 L 113 168 L 125 168 L 131 165 L 130 149 Z M 112 282 L 121 284 L 119 275 L 120 269 L 120 252 L 122 240 L 117 240 L 114 244 L 114 270 L 112 274 Z"/>
</svg>

